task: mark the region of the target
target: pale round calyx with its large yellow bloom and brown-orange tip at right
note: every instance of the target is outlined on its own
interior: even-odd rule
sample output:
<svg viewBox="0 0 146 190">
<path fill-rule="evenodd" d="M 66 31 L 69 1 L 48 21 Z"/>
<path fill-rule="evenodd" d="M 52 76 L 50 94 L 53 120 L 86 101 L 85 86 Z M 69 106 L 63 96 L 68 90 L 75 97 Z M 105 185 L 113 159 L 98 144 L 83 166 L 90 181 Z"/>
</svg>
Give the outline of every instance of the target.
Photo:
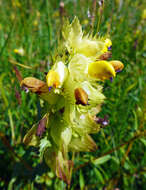
<svg viewBox="0 0 146 190">
<path fill-rule="evenodd" d="M 69 72 L 74 81 L 106 80 L 116 76 L 118 70 L 122 70 L 120 61 L 95 61 L 82 55 L 76 54 L 69 62 Z"/>
</svg>

